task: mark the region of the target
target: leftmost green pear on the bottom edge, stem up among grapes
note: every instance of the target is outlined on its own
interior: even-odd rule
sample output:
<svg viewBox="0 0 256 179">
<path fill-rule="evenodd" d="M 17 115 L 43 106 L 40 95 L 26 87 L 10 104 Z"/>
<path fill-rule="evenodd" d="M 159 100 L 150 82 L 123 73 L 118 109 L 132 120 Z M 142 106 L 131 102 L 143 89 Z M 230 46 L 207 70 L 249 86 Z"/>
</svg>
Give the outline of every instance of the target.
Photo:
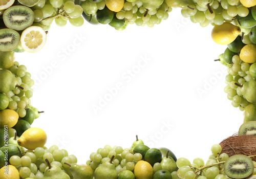
<svg viewBox="0 0 256 179">
<path fill-rule="evenodd" d="M 70 176 L 63 172 L 57 165 L 51 165 L 48 159 L 46 159 L 46 163 L 49 169 L 45 171 L 42 179 L 71 179 Z"/>
</svg>

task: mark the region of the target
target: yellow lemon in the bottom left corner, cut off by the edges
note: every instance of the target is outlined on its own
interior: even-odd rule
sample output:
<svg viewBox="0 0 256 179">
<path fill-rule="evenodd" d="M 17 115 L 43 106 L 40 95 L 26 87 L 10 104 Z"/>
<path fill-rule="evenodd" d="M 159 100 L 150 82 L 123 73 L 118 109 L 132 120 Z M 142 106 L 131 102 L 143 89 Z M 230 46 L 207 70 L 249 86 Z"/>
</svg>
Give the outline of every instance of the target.
<svg viewBox="0 0 256 179">
<path fill-rule="evenodd" d="M 1 179 L 19 179 L 19 172 L 13 165 L 4 166 L 0 169 Z"/>
</svg>

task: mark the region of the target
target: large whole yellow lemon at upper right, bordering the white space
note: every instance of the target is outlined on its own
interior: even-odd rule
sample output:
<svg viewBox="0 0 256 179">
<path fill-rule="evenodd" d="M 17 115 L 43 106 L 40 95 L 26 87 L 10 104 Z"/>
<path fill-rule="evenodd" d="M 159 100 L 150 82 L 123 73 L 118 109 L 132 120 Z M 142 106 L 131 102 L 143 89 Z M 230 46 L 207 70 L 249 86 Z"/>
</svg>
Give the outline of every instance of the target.
<svg viewBox="0 0 256 179">
<path fill-rule="evenodd" d="M 229 44 L 240 34 L 241 29 L 231 23 L 223 23 L 222 25 L 214 26 L 211 31 L 211 38 L 218 44 Z"/>
</svg>

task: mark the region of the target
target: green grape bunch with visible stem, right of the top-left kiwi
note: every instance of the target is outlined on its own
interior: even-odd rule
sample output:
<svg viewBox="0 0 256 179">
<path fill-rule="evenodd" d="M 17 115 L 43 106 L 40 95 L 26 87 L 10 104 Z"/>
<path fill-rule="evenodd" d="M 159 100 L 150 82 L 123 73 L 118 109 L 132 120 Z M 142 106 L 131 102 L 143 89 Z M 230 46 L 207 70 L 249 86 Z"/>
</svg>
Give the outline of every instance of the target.
<svg viewBox="0 0 256 179">
<path fill-rule="evenodd" d="M 67 0 L 40 0 L 34 9 L 34 25 L 42 27 L 45 31 L 50 29 L 50 25 L 55 21 L 59 27 L 66 26 L 67 22 L 75 27 L 83 25 L 81 6 L 74 1 Z"/>
</svg>

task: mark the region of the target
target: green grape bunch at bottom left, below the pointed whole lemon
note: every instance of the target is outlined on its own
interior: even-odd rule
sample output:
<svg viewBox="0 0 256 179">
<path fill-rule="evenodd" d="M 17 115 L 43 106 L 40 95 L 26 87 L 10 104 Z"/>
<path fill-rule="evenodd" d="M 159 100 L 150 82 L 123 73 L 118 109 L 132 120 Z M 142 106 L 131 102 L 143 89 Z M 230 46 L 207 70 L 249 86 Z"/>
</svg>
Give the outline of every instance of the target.
<svg viewBox="0 0 256 179">
<path fill-rule="evenodd" d="M 40 179 L 44 177 L 44 172 L 49 168 L 46 159 L 51 165 L 57 165 L 72 177 L 70 166 L 65 163 L 76 164 L 77 158 L 75 155 L 69 155 L 67 150 L 59 149 L 56 145 L 49 148 L 37 147 L 35 150 L 26 150 L 22 156 L 12 155 L 9 163 L 18 169 L 20 178 Z"/>
</svg>

